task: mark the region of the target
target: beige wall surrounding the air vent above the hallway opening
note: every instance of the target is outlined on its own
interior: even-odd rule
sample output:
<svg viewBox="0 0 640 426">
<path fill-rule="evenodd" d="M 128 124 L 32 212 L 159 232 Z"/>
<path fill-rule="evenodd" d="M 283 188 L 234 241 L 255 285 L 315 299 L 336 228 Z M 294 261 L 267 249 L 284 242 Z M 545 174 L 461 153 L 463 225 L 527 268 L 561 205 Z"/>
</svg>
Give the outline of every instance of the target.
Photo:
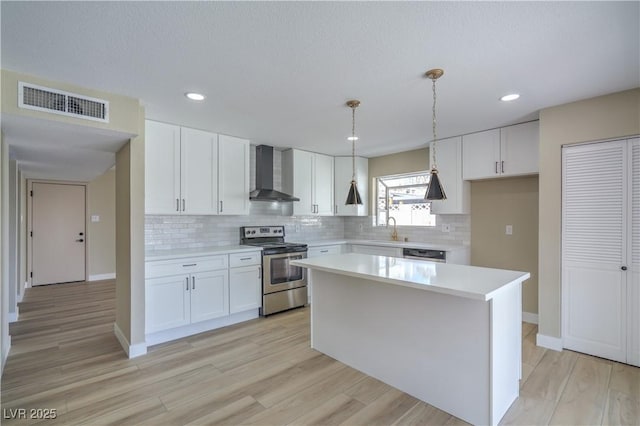
<svg viewBox="0 0 640 426">
<path fill-rule="evenodd" d="M 30 109 L 18 108 L 18 82 L 36 84 L 53 89 L 64 90 L 79 95 L 109 101 L 109 123 L 99 121 L 87 121 L 75 117 L 51 114 L 48 112 L 34 111 Z M 138 107 L 137 99 L 126 96 L 114 95 L 112 93 L 100 92 L 97 90 L 80 88 L 62 82 L 53 82 L 43 78 L 26 74 L 19 74 L 9 70 L 2 70 L 2 113 L 33 117 L 43 120 L 55 120 L 80 126 L 90 126 L 95 128 L 116 130 L 119 132 L 138 134 Z"/>
</svg>

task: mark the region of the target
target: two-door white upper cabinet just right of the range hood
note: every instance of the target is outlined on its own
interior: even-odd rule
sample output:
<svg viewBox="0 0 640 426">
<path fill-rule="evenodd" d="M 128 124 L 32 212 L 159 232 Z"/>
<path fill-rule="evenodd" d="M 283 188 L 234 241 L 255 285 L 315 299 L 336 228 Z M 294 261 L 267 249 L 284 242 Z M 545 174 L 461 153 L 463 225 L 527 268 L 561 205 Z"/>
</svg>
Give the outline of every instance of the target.
<svg viewBox="0 0 640 426">
<path fill-rule="evenodd" d="M 333 216 L 333 157 L 289 149 L 282 153 L 282 189 L 294 201 L 294 215 Z"/>
</svg>

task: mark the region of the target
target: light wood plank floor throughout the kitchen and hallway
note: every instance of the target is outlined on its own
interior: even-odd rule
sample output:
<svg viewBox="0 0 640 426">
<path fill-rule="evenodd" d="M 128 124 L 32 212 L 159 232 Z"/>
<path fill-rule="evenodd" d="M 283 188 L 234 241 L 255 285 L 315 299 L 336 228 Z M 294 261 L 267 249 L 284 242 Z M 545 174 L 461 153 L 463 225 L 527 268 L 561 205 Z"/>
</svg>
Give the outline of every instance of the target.
<svg viewBox="0 0 640 426">
<path fill-rule="evenodd" d="M 298 309 L 149 349 L 113 336 L 112 281 L 28 289 L 2 377 L 3 424 L 464 424 L 309 348 Z M 640 369 L 534 344 L 523 324 L 521 396 L 503 424 L 640 424 Z"/>
</svg>

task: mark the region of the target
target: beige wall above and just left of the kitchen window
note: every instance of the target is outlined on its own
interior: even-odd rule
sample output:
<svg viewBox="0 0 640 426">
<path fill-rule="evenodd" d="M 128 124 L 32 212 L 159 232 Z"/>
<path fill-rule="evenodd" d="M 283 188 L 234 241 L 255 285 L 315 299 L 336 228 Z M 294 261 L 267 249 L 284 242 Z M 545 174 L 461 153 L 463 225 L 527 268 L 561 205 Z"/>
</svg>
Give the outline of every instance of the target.
<svg viewBox="0 0 640 426">
<path fill-rule="evenodd" d="M 429 170 L 429 148 L 369 158 L 369 200 L 374 203 L 377 199 L 376 186 L 373 184 L 374 178 L 423 170 Z M 369 207 L 371 214 L 375 214 L 375 208 Z"/>
</svg>

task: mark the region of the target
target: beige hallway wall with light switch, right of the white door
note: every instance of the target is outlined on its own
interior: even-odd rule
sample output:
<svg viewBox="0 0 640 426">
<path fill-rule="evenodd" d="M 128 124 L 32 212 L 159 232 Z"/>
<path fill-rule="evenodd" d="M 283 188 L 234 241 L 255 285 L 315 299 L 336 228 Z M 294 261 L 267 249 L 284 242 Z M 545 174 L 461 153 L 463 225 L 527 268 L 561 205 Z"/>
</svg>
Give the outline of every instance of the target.
<svg viewBox="0 0 640 426">
<path fill-rule="evenodd" d="M 91 216 L 98 215 L 99 222 Z M 116 272 L 116 172 L 108 170 L 87 185 L 88 279 Z"/>
</svg>

